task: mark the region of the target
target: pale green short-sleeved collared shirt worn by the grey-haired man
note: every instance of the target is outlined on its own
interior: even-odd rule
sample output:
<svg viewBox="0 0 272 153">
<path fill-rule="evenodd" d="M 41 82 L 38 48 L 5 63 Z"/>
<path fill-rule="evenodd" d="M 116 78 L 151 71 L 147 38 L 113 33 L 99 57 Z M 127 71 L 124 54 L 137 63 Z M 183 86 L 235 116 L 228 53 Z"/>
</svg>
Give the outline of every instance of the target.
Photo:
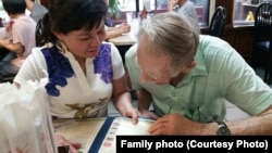
<svg viewBox="0 0 272 153">
<path fill-rule="evenodd" d="M 137 44 L 126 53 L 126 66 L 133 88 L 151 93 L 157 115 L 178 112 L 197 122 L 222 120 L 225 100 L 249 115 L 257 115 L 272 104 L 272 89 L 227 42 L 200 36 L 195 55 L 197 65 L 176 87 L 139 80 Z"/>
</svg>

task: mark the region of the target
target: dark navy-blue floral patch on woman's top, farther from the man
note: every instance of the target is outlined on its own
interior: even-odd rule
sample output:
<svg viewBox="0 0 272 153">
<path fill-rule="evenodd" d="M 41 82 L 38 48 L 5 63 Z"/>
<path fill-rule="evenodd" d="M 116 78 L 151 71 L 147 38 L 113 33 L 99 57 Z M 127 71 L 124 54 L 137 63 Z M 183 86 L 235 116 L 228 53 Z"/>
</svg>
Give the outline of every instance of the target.
<svg viewBox="0 0 272 153">
<path fill-rule="evenodd" d="M 69 59 L 57 47 L 45 48 L 41 52 L 45 55 L 49 75 L 49 81 L 46 85 L 47 93 L 52 97 L 59 97 L 60 91 L 57 89 L 57 86 L 66 86 L 66 78 L 72 77 L 74 71 Z"/>
</svg>

